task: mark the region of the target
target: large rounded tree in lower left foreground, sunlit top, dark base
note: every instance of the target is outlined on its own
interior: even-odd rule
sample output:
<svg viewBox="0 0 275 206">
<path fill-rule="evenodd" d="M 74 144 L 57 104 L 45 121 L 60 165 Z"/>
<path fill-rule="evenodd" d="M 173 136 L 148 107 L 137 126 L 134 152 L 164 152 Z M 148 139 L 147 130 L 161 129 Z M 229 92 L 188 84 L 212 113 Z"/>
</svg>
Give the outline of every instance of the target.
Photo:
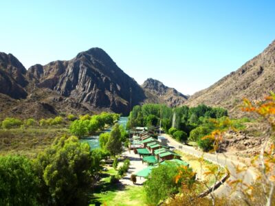
<svg viewBox="0 0 275 206">
<path fill-rule="evenodd" d="M 77 137 L 61 137 L 35 161 L 39 201 L 45 205 L 85 205 L 91 187 L 88 144 Z"/>
</svg>

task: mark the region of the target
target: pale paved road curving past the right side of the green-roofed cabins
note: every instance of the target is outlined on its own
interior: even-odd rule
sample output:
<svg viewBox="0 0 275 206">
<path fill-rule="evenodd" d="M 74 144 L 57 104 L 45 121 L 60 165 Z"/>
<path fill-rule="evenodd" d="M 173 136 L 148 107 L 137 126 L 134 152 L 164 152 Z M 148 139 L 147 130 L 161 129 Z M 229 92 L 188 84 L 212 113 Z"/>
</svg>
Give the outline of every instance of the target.
<svg viewBox="0 0 275 206">
<path fill-rule="evenodd" d="M 236 165 L 239 165 L 241 167 L 245 166 L 245 164 L 238 161 L 236 158 L 232 157 L 225 157 L 222 153 L 218 155 L 209 154 L 209 153 L 203 153 L 199 150 L 196 150 L 192 146 L 186 146 L 184 144 L 180 144 L 179 142 L 175 141 L 175 139 L 171 138 L 169 135 L 162 135 L 168 139 L 168 145 L 173 146 L 177 148 L 178 150 L 182 150 L 183 152 L 187 152 L 191 155 L 195 155 L 197 157 L 201 157 L 203 155 L 204 159 L 207 159 L 208 161 L 212 161 L 213 163 L 223 165 L 224 167 L 227 167 L 230 172 L 229 180 L 236 180 L 236 179 L 242 179 L 243 183 L 250 184 L 256 179 L 256 174 L 251 169 L 248 169 L 246 172 L 240 172 L 236 173 Z M 182 146 L 182 149 L 179 149 L 179 146 Z M 230 195 L 230 187 L 224 183 L 221 185 L 217 190 L 214 191 L 214 194 L 217 196 L 228 196 Z"/>
</svg>

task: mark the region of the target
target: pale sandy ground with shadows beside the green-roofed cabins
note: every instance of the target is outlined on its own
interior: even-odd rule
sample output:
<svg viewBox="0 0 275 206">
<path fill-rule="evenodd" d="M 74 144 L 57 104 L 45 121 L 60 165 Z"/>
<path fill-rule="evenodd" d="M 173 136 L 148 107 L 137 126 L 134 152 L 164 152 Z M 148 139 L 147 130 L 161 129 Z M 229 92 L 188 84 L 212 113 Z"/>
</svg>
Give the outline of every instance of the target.
<svg viewBox="0 0 275 206">
<path fill-rule="evenodd" d="M 126 176 L 120 179 L 120 182 L 123 185 L 134 185 L 133 182 L 131 181 L 131 174 L 135 174 L 135 172 L 138 172 L 140 170 L 143 170 L 144 168 L 147 168 L 147 165 L 146 163 L 142 164 L 142 159 L 140 159 L 139 155 L 135 155 L 133 150 L 131 150 L 131 152 L 129 152 L 129 150 L 126 150 L 125 152 L 122 153 L 122 155 L 130 159 L 130 167 Z M 122 164 L 123 163 L 120 162 L 118 164 L 118 167 L 120 167 L 120 165 Z M 146 181 L 146 179 L 144 179 L 143 177 L 140 178 L 137 176 L 137 182 L 135 183 L 135 185 L 142 185 L 144 181 Z"/>
</svg>

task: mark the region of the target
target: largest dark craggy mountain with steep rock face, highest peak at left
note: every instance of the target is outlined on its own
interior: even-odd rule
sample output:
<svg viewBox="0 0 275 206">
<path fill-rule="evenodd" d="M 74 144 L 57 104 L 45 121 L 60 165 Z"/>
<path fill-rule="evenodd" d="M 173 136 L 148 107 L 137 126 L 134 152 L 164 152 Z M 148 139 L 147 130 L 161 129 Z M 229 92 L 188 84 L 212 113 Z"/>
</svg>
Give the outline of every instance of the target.
<svg viewBox="0 0 275 206">
<path fill-rule="evenodd" d="M 94 108 L 110 108 L 116 113 L 129 113 L 130 102 L 134 106 L 146 98 L 137 82 L 99 48 L 81 52 L 69 61 L 34 65 L 28 70 L 28 76 L 38 87 L 52 89 Z"/>
</svg>

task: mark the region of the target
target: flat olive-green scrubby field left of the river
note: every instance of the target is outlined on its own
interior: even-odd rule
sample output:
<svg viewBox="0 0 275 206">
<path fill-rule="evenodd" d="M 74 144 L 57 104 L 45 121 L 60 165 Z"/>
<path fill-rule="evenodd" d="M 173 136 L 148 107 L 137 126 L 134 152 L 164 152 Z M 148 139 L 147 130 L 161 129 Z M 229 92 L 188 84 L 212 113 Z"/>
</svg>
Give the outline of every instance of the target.
<svg viewBox="0 0 275 206">
<path fill-rule="evenodd" d="M 55 137 L 69 132 L 66 126 L 0 129 L 0 155 L 18 154 L 30 158 L 50 146 Z"/>
</svg>

